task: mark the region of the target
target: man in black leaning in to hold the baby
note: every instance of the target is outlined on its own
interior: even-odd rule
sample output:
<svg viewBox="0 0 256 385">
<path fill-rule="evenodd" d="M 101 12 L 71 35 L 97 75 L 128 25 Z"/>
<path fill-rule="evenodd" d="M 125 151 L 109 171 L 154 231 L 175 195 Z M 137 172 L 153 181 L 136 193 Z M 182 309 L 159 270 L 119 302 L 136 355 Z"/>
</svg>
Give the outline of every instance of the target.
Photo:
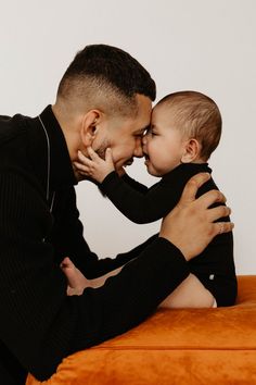
<svg viewBox="0 0 256 385">
<path fill-rule="evenodd" d="M 116 170 L 140 157 L 155 84 L 128 53 L 110 46 L 80 51 L 37 117 L 0 121 L 0 376 L 23 384 L 27 372 L 47 380 L 63 357 L 124 333 L 143 321 L 189 275 L 187 261 L 220 231 L 213 223 L 230 210 L 219 191 L 194 200 L 207 176 L 199 175 L 162 223 L 159 237 L 99 260 L 82 237 L 73 165 L 87 147 Z M 67 296 L 60 263 L 68 256 L 88 278 L 121 265 L 98 289 Z M 136 258 L 136 259 L 135 259 Z M 145 296 L 146 293 L 146 296 Z M 4 380 L 3 380 L 4 378 Z"/>
</svg>

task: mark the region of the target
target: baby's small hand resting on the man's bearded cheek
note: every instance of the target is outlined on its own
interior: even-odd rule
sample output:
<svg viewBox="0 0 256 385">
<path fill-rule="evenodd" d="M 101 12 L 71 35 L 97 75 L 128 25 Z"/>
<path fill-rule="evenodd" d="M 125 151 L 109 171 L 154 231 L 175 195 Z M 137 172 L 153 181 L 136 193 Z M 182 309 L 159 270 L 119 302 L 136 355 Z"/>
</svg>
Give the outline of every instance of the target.
<svg viewBox="0 0 256 385">
<path fill-rule="evenodd" d="M 88 147 L 87 151 L 90 158 L 85 157 L 81 151 L 78 151 L 79 162 L 74 162 L 74 164 L 80 174 L 90 176 L 97 182 L 102 183 L 106 175 L 115 170 L 111 149 L 106 149 L 105 159 L 100 158 L 91 147 Z"/>
</svg>

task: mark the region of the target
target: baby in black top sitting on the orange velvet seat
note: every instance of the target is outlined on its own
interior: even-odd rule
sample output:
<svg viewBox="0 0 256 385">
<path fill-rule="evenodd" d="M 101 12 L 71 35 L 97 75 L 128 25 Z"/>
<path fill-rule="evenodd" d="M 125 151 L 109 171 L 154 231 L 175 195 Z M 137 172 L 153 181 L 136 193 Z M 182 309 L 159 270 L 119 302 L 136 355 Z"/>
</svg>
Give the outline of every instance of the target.
<svg viewBox="0 0 256 385">
<path fill-rule="evenodd" d="M 79 153 L 80 163 L 76 166 L 80 173 L 95 179 L 103 194 L 128 219 L 136 223 L 150 223 L 172 210 L 191 176 L 200 172 L 212 173 L 207 160 L 218 146 L 220 135 L 221 115 L 210 98 L 196 91 L 175 92 L 154 107 L 151 126 L 142 138 L 144 163 L 151 175 L 162 177 L 158 183 L 148 188 L 130 178 L 124 170 L 117 173 L 110 149 L 102 159 L 92 148 L 88 148 L 90 158 Z M 210 189 L 217 189 L 213 178 L 200 188 L 197 196 Z M 219 235 L 204 252 L 188 262 L 189 277 L 162 306 L 179 308 L 234 303 L 233 237 L 232 233 L 221 233 L 220 225 Z M 75 266 L 69 260 L 68 263 L 76 287 Z"/>
</svg>

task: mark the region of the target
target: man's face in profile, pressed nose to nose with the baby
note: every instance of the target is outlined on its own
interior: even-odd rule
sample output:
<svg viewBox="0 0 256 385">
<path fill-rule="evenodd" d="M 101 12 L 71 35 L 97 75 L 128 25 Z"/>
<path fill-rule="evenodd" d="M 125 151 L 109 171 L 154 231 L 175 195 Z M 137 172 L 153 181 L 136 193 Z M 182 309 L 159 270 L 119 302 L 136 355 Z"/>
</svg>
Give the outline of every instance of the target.
<svg viewBox="0 0 256 385">
<path fill-rule="evenodd" d="M 101 138 L 92 144 L 92 148 L 101 158 L 105 149 L 112 149 L 116 170 L 131 164 L 133 157 L 142 157 L 141 138 L 150 125 L 152 102 L 150 98 L 137 95 L 138 114 L 136 117 L 116 117 L 107 122 Z M 99 142 L 100 141 L 100 142 Z"/>
</svg>

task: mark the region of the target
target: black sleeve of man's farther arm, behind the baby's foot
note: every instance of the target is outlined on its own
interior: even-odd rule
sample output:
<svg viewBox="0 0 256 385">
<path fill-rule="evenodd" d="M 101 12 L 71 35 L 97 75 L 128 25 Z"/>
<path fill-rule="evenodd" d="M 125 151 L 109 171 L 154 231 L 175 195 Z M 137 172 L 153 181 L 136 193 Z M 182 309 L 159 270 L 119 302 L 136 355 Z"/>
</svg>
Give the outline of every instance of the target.
<svg viewBox="0 0 256 385">
<path fill-rule="evenodd" d="M 56 191 L 53 216 L 54 225 L 49 240 L 54 246 L 57 262 L 61 263 L 64 257 L 69 257 L 87 278 L 99 277 L 126 264 L 136 258 L 151 241 L 149 239 L 128 252 L 118 253 L 115 258 L 99 259 L 90 250 L 84 237 L 85 229 L 79 220 L 74 187 Z"/>
</svg>

